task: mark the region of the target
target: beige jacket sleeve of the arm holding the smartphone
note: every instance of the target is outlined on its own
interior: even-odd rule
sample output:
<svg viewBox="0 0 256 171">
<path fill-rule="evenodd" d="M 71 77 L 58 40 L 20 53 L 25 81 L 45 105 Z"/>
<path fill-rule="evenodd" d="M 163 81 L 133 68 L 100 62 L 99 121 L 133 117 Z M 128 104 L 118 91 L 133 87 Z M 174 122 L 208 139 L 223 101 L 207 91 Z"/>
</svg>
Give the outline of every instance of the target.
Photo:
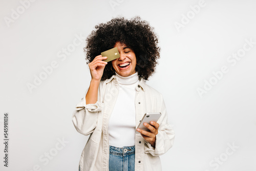
<svg viewBox="0 0 256 171">
<path fill-rule="evenodd" d="M 175 133 L 168 123 L 168 116 L 165 104 L 161 95 L 161 117 L 157 121 L 159 123 L 158 134 L 156 135 L 155 148 L 149 142 L 145 141 L 144 152 L 150 153 L 152 156 L 160 156 L 166 153 L 174 143 Z"/>
</svg>

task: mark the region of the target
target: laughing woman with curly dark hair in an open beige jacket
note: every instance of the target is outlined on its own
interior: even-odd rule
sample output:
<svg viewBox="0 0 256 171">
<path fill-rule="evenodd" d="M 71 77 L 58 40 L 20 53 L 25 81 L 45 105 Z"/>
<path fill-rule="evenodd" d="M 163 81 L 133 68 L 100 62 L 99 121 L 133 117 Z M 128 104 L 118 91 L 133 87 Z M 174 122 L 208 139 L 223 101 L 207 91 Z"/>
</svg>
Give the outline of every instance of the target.
<svg viewBox="0 0 256 171">
<path fill-rule="evenodd" d="M 162 95 L 145 84 L 159 58 L 158 38 L 140 17 L 113 18 L 87 38 L 90 87 L 73 113 L 76 130 L 90 135 L 79 170 L 161 170 L 159 156 L 174 142 Z M 101 52 L 116 47 L 110 62 Z M 143 115 L 161 112 L 157 122 L 136 130 Z M 136 134 L 136 132 L 140 134 Z"/>
</svg>

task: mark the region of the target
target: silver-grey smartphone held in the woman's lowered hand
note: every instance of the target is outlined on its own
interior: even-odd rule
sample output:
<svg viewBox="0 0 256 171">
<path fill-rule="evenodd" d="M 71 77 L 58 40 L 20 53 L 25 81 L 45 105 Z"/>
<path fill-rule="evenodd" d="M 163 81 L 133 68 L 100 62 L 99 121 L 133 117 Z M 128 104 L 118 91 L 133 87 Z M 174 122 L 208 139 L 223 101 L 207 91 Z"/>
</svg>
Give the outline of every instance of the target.
<svg viewBox="0 0 256 171">
<path fill-rule="evenodd" d="M 145 127 L 143 125 L 143 123 L 147 123 L 147 124 L 150 124 L 151 121 L 155 121 L 157 122 L 158 119 L 160 118 L 161 116 L 161 113 L 160 112 L 151 112 L 151 113 L 145 113 L 144 116 L 142 117 L 142 119 L 140 120 L 140 123 L 137 127 L 137 129 L 141 129 L 141 130 L 144 130 L 144 131 L 147 131 L 147 132 L 150 132 L 150 130 L 147 129 L 147 127 Z M 151 125 L 151 124 L 150 124 Z M 137 130 L 136 129 L 136 130 Z M 139 133 L 138 131 L 136 131 L 136 133 Z"/>
</svg>

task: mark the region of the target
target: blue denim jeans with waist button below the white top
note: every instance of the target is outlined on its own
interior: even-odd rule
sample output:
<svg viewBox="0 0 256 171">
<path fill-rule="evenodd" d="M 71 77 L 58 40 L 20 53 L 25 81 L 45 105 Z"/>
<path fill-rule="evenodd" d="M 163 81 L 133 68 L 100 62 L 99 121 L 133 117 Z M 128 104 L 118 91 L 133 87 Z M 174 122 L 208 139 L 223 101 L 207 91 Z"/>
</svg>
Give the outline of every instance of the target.
<svg viewBox="0 0 256 171">
<path fill-rule="evenodd" d="M 110 145 L 110 171 L 134 171 L 135 170 L 135 146 L 123 146 L 122 148 Z"/>
</svg>

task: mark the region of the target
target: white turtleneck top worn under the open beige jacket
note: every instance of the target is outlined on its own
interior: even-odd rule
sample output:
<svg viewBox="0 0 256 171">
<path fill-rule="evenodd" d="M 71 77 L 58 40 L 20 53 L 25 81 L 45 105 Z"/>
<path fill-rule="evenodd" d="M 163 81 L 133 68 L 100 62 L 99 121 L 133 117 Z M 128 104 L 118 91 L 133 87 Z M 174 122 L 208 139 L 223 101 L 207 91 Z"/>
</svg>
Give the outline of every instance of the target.
<svg viewBox="0 0 256 171">
<path fill-rule="evenodd" d="M 135 94 L 139 76 L 136 72 L 128 77 L 122 77 L 116 73 L 116 77 L 119 91 L 109 120 L 109 144 L 121 148 L 135 145 Z"/>
</svg>

